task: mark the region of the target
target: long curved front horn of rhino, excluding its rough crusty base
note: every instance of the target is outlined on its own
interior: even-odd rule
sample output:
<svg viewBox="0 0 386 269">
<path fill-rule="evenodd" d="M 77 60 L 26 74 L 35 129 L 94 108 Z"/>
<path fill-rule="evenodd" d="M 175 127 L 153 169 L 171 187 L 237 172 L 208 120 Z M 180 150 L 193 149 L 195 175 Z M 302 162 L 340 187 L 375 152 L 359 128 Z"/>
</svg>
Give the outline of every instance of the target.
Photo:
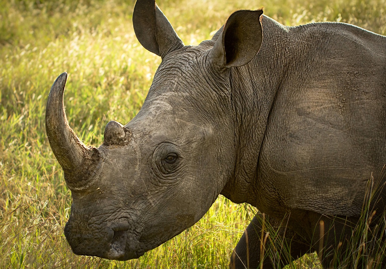
<svg viewBox="0 0 386 269">
<path fill-rule="evenodd" d="M 63 94 L 67 73 L 55 80 L 48 95 L 46 108 L 46 132 L 59 164 L 64 171 L 80 169 L 91 147 L 86 147 L 69 127 L 64 112 Z"/>
</svg>

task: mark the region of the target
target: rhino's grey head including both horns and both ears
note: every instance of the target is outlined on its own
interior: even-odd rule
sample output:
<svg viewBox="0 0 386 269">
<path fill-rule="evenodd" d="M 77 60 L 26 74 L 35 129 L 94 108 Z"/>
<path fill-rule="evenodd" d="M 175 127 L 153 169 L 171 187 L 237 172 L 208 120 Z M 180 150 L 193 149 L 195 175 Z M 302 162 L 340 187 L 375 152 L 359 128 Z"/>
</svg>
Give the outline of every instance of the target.
<svg viewBox="0 0 386 269">
<path fill-rule="evenodd" d="M 154 0 L 138 0 L 135 33 L 163 61 L 140 112 L 125 126 L 110 121 L 99 148 L 85 146 L 69 127 L 63 105 L 67 74 L 57 78 L 46 130 L 72 193 L 64 233 L 75 254 L 138 258 L 207 212 L 234 174 L 229 69 L 259 50 L 261 13 L 236 12 L 213 40 L 191 47 Z M 243 39 L 240 27 L 253 34 Z"/>
</svg>

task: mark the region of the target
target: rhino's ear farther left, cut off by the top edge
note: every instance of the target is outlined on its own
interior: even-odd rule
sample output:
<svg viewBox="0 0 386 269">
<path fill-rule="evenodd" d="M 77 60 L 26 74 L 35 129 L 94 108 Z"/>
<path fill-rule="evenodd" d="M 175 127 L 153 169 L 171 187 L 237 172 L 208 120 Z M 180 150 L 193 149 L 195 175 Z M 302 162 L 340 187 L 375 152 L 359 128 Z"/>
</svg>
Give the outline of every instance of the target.
<svg viewBox="0 0 386 269">
<path fill-rule="evenodd" d="M 135 36 L 142 46 L 162 58 L 184 46 L 155 0 L 135 2 L 133 26 Z"/>
</svg>

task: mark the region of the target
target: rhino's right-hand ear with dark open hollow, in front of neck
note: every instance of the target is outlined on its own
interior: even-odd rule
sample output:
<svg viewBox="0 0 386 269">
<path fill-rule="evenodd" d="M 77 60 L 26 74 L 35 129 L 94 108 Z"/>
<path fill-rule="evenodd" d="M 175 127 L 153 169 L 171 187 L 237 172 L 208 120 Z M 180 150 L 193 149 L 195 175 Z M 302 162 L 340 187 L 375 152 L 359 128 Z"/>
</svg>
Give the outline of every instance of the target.
<svg viewBox="0 0 386 269">
<path fill-rule="evenodd" d="M 249 63 L 261 47 L 262 13 L 262 10 L 238 10 L 232 13 L 210 52 L 210 58 L 225 68 Z"/>
</svg>

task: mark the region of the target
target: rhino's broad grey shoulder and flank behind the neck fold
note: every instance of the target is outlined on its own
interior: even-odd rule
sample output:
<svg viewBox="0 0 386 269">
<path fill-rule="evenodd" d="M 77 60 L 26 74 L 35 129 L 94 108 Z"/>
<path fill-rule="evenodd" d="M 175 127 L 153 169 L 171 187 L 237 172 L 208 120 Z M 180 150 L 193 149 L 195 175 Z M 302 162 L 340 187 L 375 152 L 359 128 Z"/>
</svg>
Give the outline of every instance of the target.
<svg viewBox="0 0 386 269">
<path fill-rule="evenodd" d="M 286 211 L 358 216 L 386 161 L 386 37 L 317 23 L 289 28 L 287 44 L 256 182 Z"/>
</svg>

